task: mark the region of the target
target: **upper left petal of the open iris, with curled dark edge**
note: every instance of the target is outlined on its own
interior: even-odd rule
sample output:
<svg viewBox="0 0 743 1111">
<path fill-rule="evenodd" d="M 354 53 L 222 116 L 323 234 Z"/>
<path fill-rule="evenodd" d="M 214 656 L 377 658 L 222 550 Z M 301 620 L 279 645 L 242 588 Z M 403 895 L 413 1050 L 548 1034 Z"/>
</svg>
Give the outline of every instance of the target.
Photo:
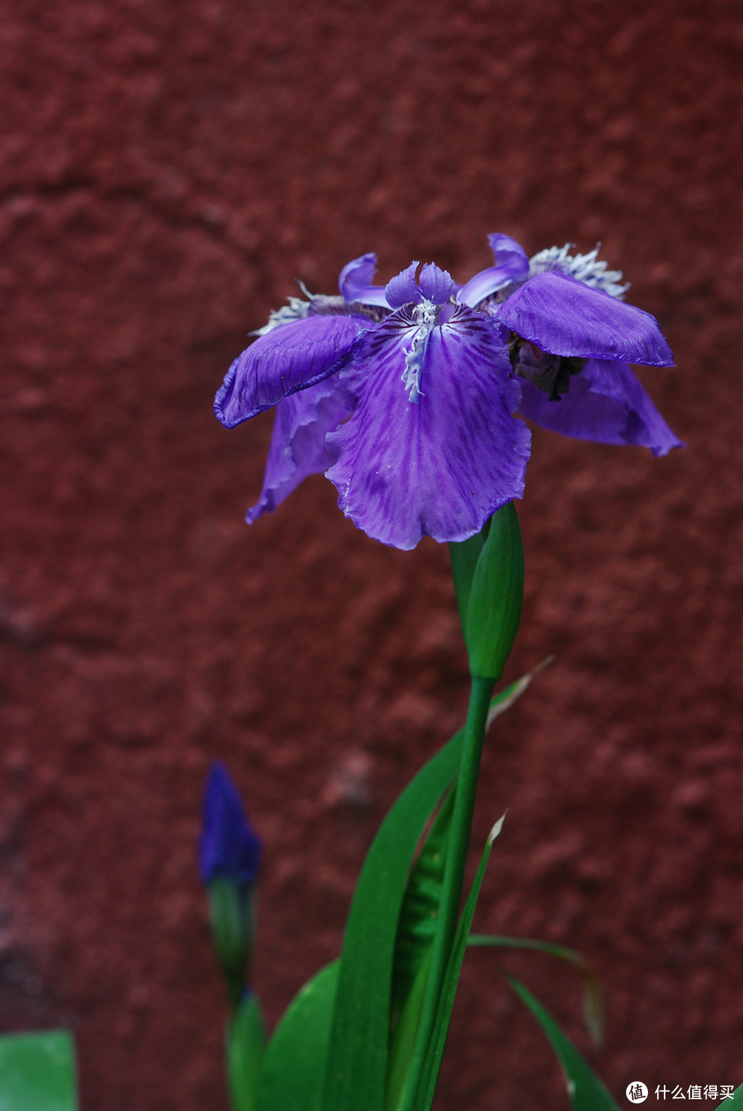
<svg viewBox="0 0 743 1111">
<path fill-rule="evenodd" d="M 329 378 L 346 364 L 370 323 L 364 317 L 307 317 L 262 336 L 227 371 L 214 399 L 217 419 L 234 428 Z"/>
</svg>

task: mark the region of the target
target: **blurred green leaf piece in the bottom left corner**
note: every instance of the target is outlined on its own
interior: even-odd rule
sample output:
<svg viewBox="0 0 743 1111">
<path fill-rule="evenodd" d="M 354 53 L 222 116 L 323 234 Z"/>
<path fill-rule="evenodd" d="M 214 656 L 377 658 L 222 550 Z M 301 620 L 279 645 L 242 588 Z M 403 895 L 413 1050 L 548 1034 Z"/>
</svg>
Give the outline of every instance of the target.
<svg viewBox="0 0 743 1111">
<path fill-rule="evenodd" d="M 77 1111 L 74 1042 L 67 1030 L 0 1038 L 0 1111 Z"/>
</svg>

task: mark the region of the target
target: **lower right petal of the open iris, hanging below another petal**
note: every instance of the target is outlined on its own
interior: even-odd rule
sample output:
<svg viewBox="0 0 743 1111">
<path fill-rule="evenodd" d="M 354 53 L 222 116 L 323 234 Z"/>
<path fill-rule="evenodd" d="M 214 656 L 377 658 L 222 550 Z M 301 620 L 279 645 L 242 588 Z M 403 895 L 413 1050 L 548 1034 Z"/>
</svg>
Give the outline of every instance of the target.
<svg viewBox="0 0 743 1111">
<path fill-rule="evenodd" d="M 633 443 L 654 456 L 684 446 L 625 362 L 590 360 L 559 401 L 550 401 L 526 379 L 521 389 L 521 416 L 552 432 L 598 443 Z"/>
</svg>

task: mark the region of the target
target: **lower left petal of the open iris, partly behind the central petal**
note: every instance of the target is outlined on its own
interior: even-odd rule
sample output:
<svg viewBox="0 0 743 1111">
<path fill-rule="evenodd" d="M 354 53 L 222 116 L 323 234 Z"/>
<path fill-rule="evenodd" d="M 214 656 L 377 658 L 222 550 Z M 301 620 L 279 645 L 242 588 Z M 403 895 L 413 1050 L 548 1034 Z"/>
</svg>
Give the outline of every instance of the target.
<svg viewBox="0 0 743 1111">
<path fill-rule="evenodd" d="M 263 490 L 247 511 L 248 524 L 263 513 L 273 512 L 309 474 L 322 474 L 332 466 L 325 436 L 347 416 L 348 409 L 338 393 L 337 374 L 278 402 Z"/>
</svg>

